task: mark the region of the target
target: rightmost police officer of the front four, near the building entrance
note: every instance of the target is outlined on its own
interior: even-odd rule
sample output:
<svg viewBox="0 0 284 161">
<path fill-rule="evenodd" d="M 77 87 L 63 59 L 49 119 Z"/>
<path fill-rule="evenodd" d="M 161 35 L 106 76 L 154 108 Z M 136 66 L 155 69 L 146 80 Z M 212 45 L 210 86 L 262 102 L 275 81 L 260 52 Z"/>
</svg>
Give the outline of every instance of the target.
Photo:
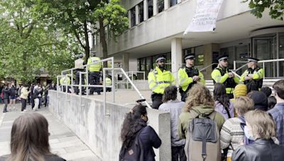
<svg viewBox="0 0 284 161">
<path fill-rule="evenodd" d="M 263 84 L 264 71 L 263 68 L 258 67 L 258 61 L 258 59 L 252 57 L 248 59 L 248 69 L 241 75 L 241 81 L 247 86 L 251 86 L 249 84 L 253 83 L 260 90 Z"/>
</svg>

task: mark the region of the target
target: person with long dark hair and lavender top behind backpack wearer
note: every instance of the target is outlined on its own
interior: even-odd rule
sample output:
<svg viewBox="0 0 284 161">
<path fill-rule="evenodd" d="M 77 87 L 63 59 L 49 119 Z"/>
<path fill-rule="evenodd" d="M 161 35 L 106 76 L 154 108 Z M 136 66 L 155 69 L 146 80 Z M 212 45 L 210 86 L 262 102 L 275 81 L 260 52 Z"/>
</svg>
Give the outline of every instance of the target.
<svg viewBox="0 0 284 161">
<path fill-rule="evenodd" d="M 216 83 L 214 85 L 214 100 L 215 100 L 215 111 L 222 114 L 224 119 L 234 117 L 233 103 L 229 100 L 226 95 L 226 86 L 222 83 Z"/>
</svg>

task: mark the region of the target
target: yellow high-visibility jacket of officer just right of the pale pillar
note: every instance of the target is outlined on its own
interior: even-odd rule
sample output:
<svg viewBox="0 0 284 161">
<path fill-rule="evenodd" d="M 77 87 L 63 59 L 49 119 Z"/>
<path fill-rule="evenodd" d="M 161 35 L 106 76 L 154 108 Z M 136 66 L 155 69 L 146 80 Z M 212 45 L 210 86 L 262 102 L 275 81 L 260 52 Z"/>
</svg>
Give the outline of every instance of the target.
<svg viewBox="0 0 284 161">
<path fill-rule="evenodd" d="M 192 76 L 197 76 L 197 73 L 192 73 L 192 76 L 188 76 L 187 72 L 185 71 L 186 68 L 180 68 L 178 70 L 178 85 L 182 88 L 183 91 L 186 91 L 189 85 L 193 83 Z M 200 77 L 200 81 L 198 83 L 205 84 L 204 76 L 203 74 L 198 71 L 197 68 L 194 68 L 196 72 L 198 72 L 198 76 Z"/>
</svg>

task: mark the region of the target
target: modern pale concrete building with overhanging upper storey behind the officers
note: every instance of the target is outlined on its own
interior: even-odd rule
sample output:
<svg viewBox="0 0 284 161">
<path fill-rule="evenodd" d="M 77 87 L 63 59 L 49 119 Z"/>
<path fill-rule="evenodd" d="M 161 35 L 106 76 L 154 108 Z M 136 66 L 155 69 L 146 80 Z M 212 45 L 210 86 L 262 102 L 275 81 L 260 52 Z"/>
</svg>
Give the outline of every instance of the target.
<svg viewBox="0 0 284 161">
<path fill-rule="evenodd" d="M 284 58 L 284 22 L 271 19 L 268 11 L 256 18 L 241 0 L 224 0 L 214 32 L 187 35 L 183 32 L 194 16 L 197 0 L 121 0 L 121 4 L 129 11 L 129 29 L 107 44 L 109 56 L 121 61 L 126 71 L 148 73 L 160 54 L 167 56 L 168 68 L 175 75 L 187 53 L 195 53 L 197 68 L 209 66 L 219 54 L 229 54 L 230 68 L 234 61 L 248 56 Z M 94 37 L 95 48 L 102 53 L 97 40 Z M 205 78 L 210 78 L 212 68 L 204 71 Z M 283 68 L 283 61 L 266 63 L 266 78 L 283 77 Z"/>
</svg>

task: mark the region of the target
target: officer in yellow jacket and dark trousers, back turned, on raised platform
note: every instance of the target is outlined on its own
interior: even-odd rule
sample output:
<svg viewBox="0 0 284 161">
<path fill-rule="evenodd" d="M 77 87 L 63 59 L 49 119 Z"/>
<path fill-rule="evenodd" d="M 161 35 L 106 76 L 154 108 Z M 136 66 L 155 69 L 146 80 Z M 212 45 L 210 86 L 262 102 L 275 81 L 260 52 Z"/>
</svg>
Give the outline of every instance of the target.
<svg viewBox="0 0 284 161">
<path fill-rule="evenodd" d="M 88 59 L 87 64 L 92 64 L 96 61 L 100 61 L 99 57 L 96 57 L 97 52 L 91 52 L 91 56 Z M 102 68 L 102 63 L 92 64 L 88 66 L 89 70 L 89 83 L 91 85 L 99 85 L 99 74 Z M 89 95 L 93 95 L 94 92 L 97 92 L 98 95 L 101 95 L 101 91 L 99 88 L 90 88 Z"/>
</svg>

